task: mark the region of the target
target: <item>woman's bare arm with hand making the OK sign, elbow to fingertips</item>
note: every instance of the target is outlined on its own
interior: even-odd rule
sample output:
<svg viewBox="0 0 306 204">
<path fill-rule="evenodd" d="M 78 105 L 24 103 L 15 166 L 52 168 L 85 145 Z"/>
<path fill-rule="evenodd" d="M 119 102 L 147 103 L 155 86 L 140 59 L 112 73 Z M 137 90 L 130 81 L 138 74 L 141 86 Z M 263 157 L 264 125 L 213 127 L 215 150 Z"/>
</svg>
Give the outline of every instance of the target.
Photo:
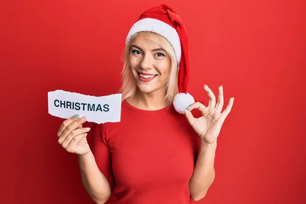
<svg viewBox="0 0 306 204">
<path fill-rule="evenodd" d="M 217 138 L 221 131 L 222 124 L 230 113 L 234 97 L 230 98 L 228 105 L 223 108 L 223 87 L 219 86 L 218 103 L 212 90 L 204 85 L 204 90 L 209 96 L 208 106 L 196 102 L 185 109 L 186 117 L 200 139 L 196 140 L 196 150 L 198 149 L 197 161 L 193 174 L 189 181 L 190 196 L 194 200 L 203 198 L 215 179 L 215 152 L 217 148 Z M 201 112 L 199 118 L 194 118 L 191 111 L 198 109 Z M 199 148 L 198 148 L 199 146 Z"/>
</svg>

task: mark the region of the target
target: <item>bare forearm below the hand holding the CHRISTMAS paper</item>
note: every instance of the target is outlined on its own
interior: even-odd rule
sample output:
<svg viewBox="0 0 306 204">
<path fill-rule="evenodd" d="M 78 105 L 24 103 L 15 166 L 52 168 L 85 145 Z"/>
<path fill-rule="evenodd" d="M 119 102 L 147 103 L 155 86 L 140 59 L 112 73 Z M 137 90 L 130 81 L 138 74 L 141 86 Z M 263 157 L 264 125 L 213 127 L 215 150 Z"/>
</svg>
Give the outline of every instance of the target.
<svg viewBox="0 0 306 204">
<path fill-rule="evenodd" d="M 105 203 L 111 195 L 111 188 L 106 177 L 99 170 L 92 152 L 78 156 L 78 159 L 85 189 L 96 203 Z"/>
</svg>

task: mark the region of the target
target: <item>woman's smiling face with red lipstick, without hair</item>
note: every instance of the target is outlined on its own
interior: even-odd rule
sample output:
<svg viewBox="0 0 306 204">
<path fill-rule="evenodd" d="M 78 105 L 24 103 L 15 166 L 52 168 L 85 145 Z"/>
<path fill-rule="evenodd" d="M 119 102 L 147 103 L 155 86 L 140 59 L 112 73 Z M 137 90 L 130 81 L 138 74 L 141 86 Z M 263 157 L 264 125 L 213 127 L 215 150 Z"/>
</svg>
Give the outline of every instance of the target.
<svg viewBox="0 0 306 204">
<path fill-rule="evenodd" d="M 141 92 L 165 92 L 171 58 L 161 46 L 144 35 L 138 35 L 131 45 L 130 68 Z"/>
</svg>

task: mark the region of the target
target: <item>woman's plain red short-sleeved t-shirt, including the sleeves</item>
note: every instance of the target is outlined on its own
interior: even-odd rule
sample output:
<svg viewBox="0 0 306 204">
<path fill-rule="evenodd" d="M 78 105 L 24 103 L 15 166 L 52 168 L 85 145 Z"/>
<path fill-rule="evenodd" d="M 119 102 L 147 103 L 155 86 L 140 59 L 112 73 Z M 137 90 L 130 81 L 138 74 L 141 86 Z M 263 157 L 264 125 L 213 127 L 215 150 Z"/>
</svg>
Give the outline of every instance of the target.
<svg viewBox="0 0 306 204">
<path fill-rule="evenodd" d="M 92 142 L 115 203 L 191 202 L 188 183 L 199 137 L 172 106 L 145 111 L 123 101 L 121 121 L 94 124 Z"/>
</svg>

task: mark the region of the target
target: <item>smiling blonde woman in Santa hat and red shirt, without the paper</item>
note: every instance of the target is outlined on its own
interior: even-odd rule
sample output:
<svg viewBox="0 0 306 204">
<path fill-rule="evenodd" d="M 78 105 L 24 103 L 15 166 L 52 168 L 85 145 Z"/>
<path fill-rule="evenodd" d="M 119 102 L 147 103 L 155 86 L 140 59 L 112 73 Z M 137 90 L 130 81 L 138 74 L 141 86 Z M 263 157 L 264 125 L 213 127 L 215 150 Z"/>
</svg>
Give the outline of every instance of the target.
<svg viewBox="0 0 306 204">
<path fill-rule="evenodd" d="M 142 204 L 183 204 L 206 195 L 215 177 L 217 137 L 234 98 L 221 113 L 222 86 L 217 104 L 205 86 L 208 107 L 194 103 L 188 66 L 180 17 L 164 4 L 151 8 L 126 38 L 121 121 L 94 124 L 92 149 L 82 126 L 86 117 L 62 123 L 58 142 L 78 155 L 83 185 L 96 203 L 111 193 L 116 203 Z"/>
</svg>

